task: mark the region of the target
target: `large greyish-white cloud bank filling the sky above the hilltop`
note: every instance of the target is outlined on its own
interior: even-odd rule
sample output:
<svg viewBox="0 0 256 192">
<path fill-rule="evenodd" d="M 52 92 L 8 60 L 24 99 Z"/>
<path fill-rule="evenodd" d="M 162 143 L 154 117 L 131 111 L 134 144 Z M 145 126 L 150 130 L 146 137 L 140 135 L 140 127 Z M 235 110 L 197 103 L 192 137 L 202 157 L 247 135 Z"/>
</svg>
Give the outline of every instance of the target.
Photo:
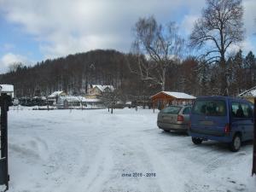
<svg viewBox="0 0 256 192">
<path fill-rule="evenodd" d="M 45 57 L 89 49 L 128 51 L 131 27 L 139 17 L 154 15 L 163 22 L 178 20 L 178 8 L 184 6 L 198 7 L 186 0 L 0 1 L 5 18 L 37 39 Z"/>
</svg>

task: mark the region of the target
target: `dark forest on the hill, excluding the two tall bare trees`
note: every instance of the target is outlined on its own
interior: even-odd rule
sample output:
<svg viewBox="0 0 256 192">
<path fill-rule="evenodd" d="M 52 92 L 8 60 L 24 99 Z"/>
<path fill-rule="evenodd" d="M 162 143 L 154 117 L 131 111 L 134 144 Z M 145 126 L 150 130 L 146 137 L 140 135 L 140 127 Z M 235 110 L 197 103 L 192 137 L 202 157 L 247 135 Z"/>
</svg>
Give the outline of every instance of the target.
<svg viewBox="0 0 256 192">
<path fill-rule="evenodd" d="M 116 50 L 92 50 L 54 60 L 38 62 L 33 67 L 19 63 L 9 73 L 1 74 L 2 84 L 14 84 L 15 96 L 48 96 L 55 90 L 70 95 L 85 95 L 88 84 L 113 84 L 122 94 L 151 96 L 161 90 L 159 84 L 143 80 L 130 68 L 137 57 Z M 227 60 L 226 77 L 229 95 L 256 84 L 256 59 L 239 50 Z M 182 91 L 193 96 L 220 94 L 221 73 L 218 63 L 207 64 L 193 56 L 172 62 L 166 69 L 166 90 Z"/>
</svg>

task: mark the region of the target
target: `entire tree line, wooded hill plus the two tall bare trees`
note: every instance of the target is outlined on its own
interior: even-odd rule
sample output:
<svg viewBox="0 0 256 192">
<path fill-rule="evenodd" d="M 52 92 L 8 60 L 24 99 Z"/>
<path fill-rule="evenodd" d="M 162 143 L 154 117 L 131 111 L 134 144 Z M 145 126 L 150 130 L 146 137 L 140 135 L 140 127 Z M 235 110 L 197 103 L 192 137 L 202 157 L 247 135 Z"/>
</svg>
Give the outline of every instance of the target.
<svg viewBox="0 0 256 192">
<path fill-rule="evenodd" d="M 129 53 L 95 49 L 32 67 L 14 63 L 0 82 L 14 84 L 17 97 L 48 96 L 55 90 L 86 95 L 89 84 L 111 84 L 122 96 L 152 96 L 160 90 L 237 96 L 256 85 L 255 55 L 237 49 L 245 39 L 242 3 L 206 3 L 188 40 L 173 21 L 139 18 Z"/>
</svg>

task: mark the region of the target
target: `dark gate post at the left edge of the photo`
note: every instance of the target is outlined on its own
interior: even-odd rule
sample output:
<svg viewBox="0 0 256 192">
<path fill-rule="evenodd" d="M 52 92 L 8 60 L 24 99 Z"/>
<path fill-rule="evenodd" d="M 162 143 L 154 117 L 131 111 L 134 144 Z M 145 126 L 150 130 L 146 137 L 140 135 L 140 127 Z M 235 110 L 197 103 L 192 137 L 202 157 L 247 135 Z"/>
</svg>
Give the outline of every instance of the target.
<svg viewBox="0 0 256 192">
<path fill-rule="evenodd" d="M 9 172 L 8 172 L 8 117 L 9 106 L 11 105 L 11 96 L 6 93 L 1 93 L 0 107 L 1 107 L 1 158 L 0 158 L 0 185 L 5 185 L 6 190 L 9 189 Z"/>
</svg>

